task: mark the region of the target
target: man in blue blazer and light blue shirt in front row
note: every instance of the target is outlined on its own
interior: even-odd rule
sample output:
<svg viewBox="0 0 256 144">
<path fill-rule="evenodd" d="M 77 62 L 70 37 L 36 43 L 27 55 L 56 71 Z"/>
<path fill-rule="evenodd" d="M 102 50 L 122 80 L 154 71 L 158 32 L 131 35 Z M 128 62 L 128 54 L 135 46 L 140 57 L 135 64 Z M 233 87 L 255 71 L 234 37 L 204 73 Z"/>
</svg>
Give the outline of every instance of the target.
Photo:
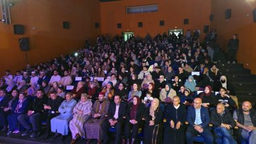
<svg viewBox="0 0 256 144">
<path fill-rule="evenodd" d="M 209 128 L 210 117 L 208 110 L 202 107 L 202 99 L 194 99 L 194 105 L 188 107 L 187 120 L 188 128 L 186 129 L 186 143 L 192 144 L 193 137 L 201 135 L 205 139 L 205 143 L 213 143 L 213 134 Z"/>
</svg>

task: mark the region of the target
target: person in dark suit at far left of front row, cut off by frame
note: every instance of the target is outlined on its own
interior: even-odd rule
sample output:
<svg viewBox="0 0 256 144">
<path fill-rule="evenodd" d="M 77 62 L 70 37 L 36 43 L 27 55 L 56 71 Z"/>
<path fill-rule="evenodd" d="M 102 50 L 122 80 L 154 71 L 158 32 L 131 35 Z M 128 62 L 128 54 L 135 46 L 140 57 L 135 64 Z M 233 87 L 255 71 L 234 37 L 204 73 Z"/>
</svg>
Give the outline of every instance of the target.
<svg viewBox="0 0 256 144">
<path fill-rule="evenodd" d="M 6 94 L 6 90 L 0 90 L 0 126 L 3 127 L 1 129 L 1 132 L 7 129 L 7 115 L 9 115 L 9 111 L 5 112 L 3 110 L 5 109 L 5 107 L 8 107 L 8 103 L 10 100 L 9 97 L 6 96 Z"/>
</svg>

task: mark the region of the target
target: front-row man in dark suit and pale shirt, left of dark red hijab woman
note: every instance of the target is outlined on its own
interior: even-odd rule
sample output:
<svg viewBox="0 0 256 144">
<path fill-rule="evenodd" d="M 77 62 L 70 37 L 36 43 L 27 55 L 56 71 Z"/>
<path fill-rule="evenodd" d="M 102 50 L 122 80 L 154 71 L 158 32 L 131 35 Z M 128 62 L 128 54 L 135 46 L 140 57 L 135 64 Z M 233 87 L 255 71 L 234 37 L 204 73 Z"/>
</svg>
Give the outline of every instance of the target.
<svg viewBox="0 0 256 144">
<path fill-rule="evenodd" d="M 103 143 L 108 143 L 108 130 L 110 126 L 116 128 L 116 144 L 121 143 L 122 126 L 125 122 L 127 103 L 121 101 L 120 96 L 115 96 L 114 103 L 108 109 L 108 118 L 102 124 Z"/>
</svg>

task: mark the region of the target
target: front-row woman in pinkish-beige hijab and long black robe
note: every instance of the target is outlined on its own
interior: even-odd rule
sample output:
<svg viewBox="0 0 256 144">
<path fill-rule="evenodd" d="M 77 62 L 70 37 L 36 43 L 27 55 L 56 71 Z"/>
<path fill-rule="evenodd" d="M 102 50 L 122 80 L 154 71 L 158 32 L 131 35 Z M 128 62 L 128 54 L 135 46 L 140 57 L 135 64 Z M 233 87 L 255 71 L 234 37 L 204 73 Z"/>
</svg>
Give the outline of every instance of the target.
<svg viewBox="0 0 256 144">
<path fill-rule="evenodd" d="M 159 107 L 159 100 L 154 98 L 150 107 L 146 109 L 144 126 L 144 143 L 162 143 L 163 111 Z"/>
</svg>

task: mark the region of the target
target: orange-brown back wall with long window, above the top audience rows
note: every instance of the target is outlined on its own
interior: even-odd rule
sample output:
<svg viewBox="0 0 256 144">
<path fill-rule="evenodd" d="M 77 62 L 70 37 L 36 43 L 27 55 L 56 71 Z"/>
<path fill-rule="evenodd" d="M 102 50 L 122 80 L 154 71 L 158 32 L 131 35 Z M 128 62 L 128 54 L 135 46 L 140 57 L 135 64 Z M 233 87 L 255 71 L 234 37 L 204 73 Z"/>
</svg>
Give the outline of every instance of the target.
<svg viewBox="0 0 256 144">
<path fill-rule="evenodd" d="M 142 14 L 126 14 L 126 7 L 139 5 L 158 4 L 158 12 Z M 135 35 L 144 37 L 146 33 L 156 35 L 168 32 L 169 29 L 182 28 L 200 29 L 209 25 L 211 8 L 210 0 L 122 0 L 100 3 L 101 32 L 110 35 L 121 34 L 122 31 L 134 31 Z M 189 19 L 189 24 L 184 25 L 183 20 Z M 165 26 L 160 26 L 160 20 L 165 21 Z M 138 27 L 138 22 L 143 22 L 143 27 Z M 117 23 L 122 24 L 117 29 Z"/>
</svg>

